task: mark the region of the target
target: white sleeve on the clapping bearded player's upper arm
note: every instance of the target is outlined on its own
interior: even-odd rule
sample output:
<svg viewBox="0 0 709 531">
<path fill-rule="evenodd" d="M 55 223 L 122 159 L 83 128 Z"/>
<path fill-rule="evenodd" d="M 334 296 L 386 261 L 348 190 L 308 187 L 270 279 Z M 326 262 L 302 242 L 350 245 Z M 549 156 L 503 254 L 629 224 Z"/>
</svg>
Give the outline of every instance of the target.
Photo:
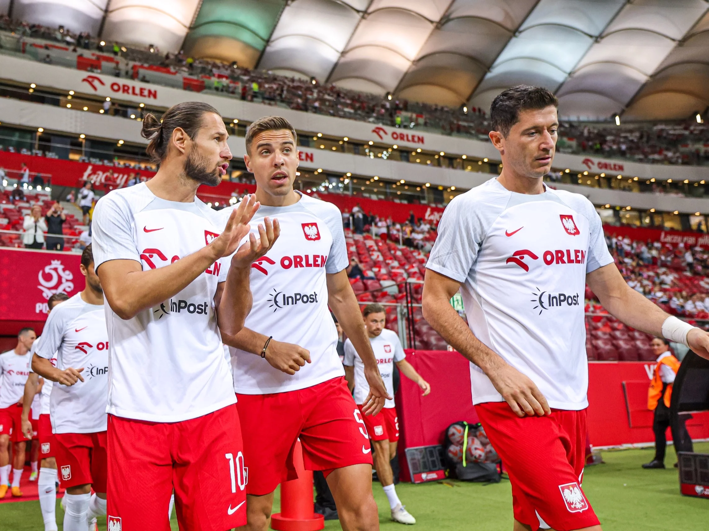
<svg viewBox="0 0 709 531">
<path fill-rule="evenodd" d="M 92 227 L 94 269 L 110 260 L 135 260 L 140 263 L 130 207 L 123 199 L 111 193 L 101 198 L 94 209 Z"/>
</svg>

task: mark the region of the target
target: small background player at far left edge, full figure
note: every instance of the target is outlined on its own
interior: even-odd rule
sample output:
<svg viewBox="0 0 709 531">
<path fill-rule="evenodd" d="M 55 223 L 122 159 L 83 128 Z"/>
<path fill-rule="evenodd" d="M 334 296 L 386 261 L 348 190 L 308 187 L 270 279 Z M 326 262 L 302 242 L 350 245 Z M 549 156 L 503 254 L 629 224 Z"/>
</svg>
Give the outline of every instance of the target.
<svg viewBox="0 0 709 531">
<path fill-rule="evenodd" d="M 30 348 L 36 338 L 33 329 L 22 329 L 17 335 L 17 346 L 0 354 L 0 498 L 7 493 L 10 467 L 12 495 L 22 496 L 20 479 L 27 446 L 27 439 L 22 433 L 22 401 L 25 382 L 30 374 Z M 14 450 L 12 464 L 9 455 L 11 442 Z"/>
</svg>

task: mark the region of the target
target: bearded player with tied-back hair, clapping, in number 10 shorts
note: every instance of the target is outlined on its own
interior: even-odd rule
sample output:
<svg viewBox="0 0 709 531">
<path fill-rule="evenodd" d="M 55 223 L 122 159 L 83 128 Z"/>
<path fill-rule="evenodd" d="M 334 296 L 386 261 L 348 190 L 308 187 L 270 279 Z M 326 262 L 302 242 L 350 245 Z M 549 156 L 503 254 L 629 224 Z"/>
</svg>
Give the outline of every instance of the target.
<svg viewBox="0 0 709 531">
<path fill-rule="evenodd" d="M 258 237 L 239 246 L 255 198 L 227 224 L 196 198 L 199 185 L 221 182 L 231 159 L 211 105 L 179 103 L 160 121 L 146 115 L 143 136 L 160 163 L 155 177 L 111 191 L 94 210 L 111 345 L 108 527 L 168 530 L 174 489 L 181 529 L 228 530 L 246 523 L 247 476 L 220 329 L 240 330 L 250 265 L 279 227 L 264 219 Z"/>
</svg>

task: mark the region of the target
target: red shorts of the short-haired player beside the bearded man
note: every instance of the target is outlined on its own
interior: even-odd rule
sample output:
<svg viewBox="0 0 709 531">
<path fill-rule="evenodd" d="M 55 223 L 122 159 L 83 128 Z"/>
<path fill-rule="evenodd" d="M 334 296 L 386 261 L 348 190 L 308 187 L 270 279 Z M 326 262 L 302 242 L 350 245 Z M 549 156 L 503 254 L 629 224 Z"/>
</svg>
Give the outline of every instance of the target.
<svg viewBox="0 0 709 531">
<path fill-rule="evenodd" d="M 247 494 L 262 496 L 297 479 L 293 450 L 298 438 L 305 468 L 325 476 L 336 468 L 372 464 L 367 428 L 344 377 L 296 391 L 237 396 L 251 471 Z"/>
</svg>

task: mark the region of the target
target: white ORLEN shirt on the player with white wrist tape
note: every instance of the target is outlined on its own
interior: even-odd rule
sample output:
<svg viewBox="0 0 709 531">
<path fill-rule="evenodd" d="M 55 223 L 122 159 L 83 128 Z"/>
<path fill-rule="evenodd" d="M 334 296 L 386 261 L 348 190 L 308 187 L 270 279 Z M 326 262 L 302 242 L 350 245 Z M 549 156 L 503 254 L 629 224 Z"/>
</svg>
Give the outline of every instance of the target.
<svg viewBox="0 0 709 531">
<path fill-rule="evenodd" d="M 586 274 L 613 262 L 583 195 L 513 193 L 496 178 L 446 207 L 427 268 L 462 282 L 471 331 L 527 375 L 549 406 L 588 406 Z M 473 403 L 503 401 L 470 365 Z"/>
</svg>

